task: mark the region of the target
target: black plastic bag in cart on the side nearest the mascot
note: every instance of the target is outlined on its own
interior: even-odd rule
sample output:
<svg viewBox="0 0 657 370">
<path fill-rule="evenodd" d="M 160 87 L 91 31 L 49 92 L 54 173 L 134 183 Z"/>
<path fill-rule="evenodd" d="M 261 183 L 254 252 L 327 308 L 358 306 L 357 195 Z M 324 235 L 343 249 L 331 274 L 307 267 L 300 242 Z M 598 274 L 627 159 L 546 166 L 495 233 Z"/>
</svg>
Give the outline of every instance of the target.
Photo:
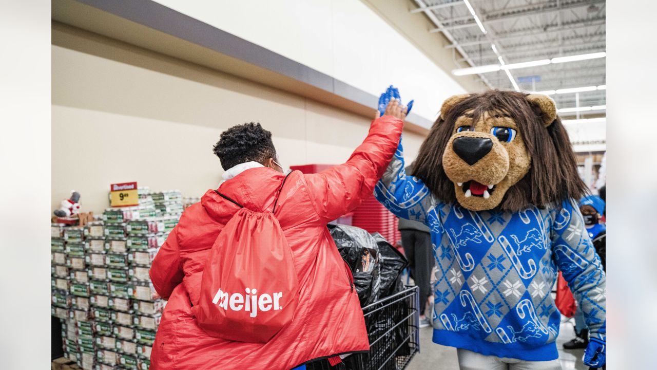
<svg viewBox="0 0 657 370">
<path fill-rule="evenodd" d="M 403 290 L 403 284 L 401 284 L 400 278 L 401 271 L 409 263 L 406 257 L 394 248 L 381 234 L 374 232 L 372 236 L 376 240 L 379 252 L 379 276 L 381 277 L 381 284 L 378 297 L 386 298 Z"/>
</svg>

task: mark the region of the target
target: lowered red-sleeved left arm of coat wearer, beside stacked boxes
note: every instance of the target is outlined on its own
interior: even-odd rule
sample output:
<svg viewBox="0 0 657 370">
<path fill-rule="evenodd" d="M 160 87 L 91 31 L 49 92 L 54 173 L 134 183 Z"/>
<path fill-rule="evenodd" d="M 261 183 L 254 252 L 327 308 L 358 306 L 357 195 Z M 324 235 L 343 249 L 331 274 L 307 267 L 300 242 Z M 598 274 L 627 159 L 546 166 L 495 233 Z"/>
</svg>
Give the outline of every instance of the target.
<svg viewBox="0 0 657 370">
<path fill-rule="evenodd" d="M 177 226 L 173 228 L 160 247 L 150 270 L 148 270 L 148 275 L 156 292 L 165 300 L 169 299 L 173 288 L 183 281 L 184 273 L 178 248 Z"/>
</svg>

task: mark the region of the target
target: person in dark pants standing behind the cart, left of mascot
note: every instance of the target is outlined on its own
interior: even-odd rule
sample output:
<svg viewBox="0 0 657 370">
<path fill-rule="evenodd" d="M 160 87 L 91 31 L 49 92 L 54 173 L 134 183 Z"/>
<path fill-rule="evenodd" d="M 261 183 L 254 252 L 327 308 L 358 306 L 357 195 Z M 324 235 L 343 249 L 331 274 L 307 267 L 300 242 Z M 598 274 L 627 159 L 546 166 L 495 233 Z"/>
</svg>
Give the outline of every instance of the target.
<svg viewBox="0 0 657 370">
<path fill-rule="evenodd" d="M 413 172 L 413 164 L 406 167 L 406 173 Z M 431 272 L 436 259 L 431 244 L 431 234 L 428 226 L 419 221 L 411 221 L 399 218 L 399 231 L 401 232 L 401 246 L 404 254 L 409 260 L 409 269 L 415 285 L 420 288 L 420 328 L 431 325 L 427 314 L 426 305 L 432 294 Z"/>
</svg>

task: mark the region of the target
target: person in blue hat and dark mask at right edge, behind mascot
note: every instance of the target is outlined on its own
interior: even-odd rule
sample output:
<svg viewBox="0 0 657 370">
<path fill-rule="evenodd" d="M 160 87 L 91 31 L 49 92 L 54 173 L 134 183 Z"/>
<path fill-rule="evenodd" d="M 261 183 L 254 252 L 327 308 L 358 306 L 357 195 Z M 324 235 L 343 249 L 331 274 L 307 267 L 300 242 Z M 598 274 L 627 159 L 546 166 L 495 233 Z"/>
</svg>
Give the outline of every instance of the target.
<svg viewBox="0 0 657 370">
<path fill-rule="evenodd" d="M 604 194 L 604 186 L 600 189 Z M 599 196 L 586 196 L 579 201 L 579 211 L 584 218 L 589 238 L 593 242 L 596 253 L 600 256 L 602 268 L 605 269 L 605 236 L 606 226 L 602 223 L 604 213 L 604 200 Z M 577 308 L 575 311 L 575 338 L 564 343 L 566 350 L 584 349 L 589 345 L 589 329 L 586 327 L 584 313 Z"/>
</svg>

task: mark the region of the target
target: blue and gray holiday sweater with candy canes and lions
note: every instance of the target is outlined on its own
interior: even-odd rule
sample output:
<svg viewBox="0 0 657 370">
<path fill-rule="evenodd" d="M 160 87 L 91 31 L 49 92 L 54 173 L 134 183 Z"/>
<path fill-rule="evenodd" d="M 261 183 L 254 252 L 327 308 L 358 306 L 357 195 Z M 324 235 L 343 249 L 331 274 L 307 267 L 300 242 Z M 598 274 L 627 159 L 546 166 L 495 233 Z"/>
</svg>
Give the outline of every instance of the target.
<svg viewBox="0 0 657 370">
<path fill-rule="evenodd" d="M 406 176 L 401 142 L 374 195 L 398 217 L 431 229 L 434 342 L 526 361 L 558 358 L 557 269 L 591 336 L 604 340 L 604 271 L 576 201 L 515 213 L 443 203 Z"/>
</svg>

